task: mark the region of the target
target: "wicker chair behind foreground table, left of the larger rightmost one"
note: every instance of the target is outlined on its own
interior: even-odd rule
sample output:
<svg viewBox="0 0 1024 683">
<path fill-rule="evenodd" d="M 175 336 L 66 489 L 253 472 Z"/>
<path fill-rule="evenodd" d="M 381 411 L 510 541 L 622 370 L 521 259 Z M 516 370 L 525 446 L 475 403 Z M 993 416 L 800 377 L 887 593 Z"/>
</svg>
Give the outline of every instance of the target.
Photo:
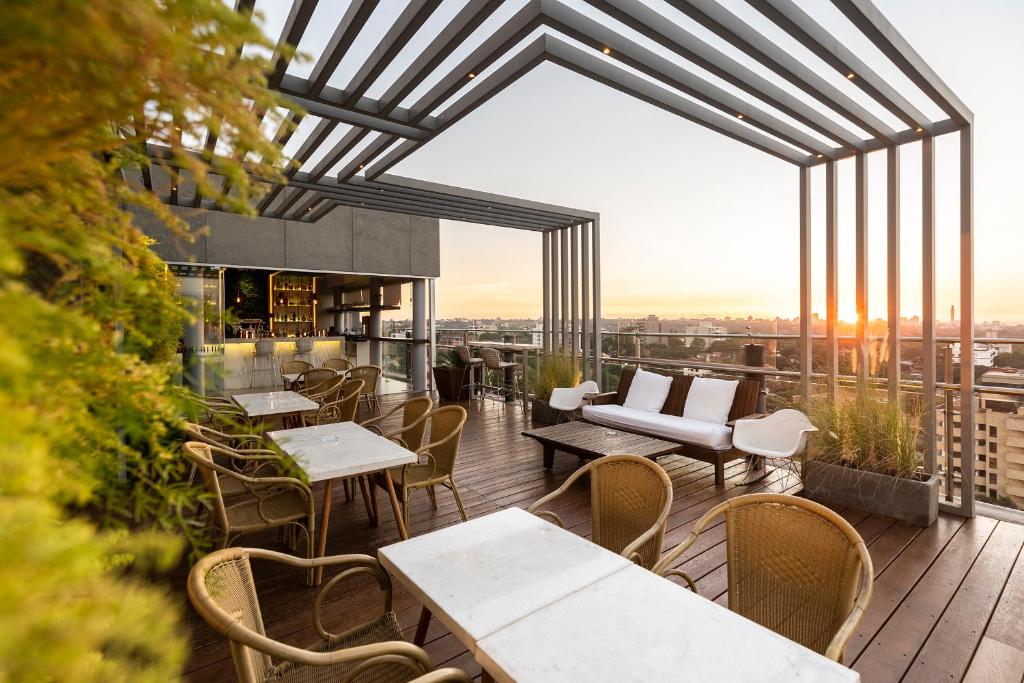
<svg viewBox="0 0 1024 683">
<path fill-rule="evenodd" d="M 665 543 L 665 525 L 672 508 L 672 480 L 657 463 L 640 456 L 605 456 L 593 460 L 526 511 L 562 526 L 554 512 L 543 510 L 577 479 L 590 474 L 593 541 L 602 548 L 650 569 Z"/>
</svg>

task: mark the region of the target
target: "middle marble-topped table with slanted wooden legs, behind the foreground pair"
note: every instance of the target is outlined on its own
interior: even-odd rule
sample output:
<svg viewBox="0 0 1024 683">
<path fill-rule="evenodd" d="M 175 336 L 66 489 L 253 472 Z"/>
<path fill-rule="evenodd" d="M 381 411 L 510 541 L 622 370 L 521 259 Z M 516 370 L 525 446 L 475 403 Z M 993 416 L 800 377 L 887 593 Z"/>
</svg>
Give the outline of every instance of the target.
<svg viewBox="0 0 1024 683">
<path fill-rule="evenodd" d="M 324 482 L 318 545 L 321 557 L 327 549 L 327 530 L 331 519 L 331 494 L 335 479 L 374 472 L 383 473 L 388 498 L 391 500 L 391 508 L 394 511 L 395 523 L 398 525 L 398 535 L 402 539 L 409 538 L 406 520 L 401 516 L 398 496 L 394 489 L 394 481 L 389 469 L 417 462 L 415 453 L 360 427 L 354 422 L 282 429 L 267 432 L 267 436 L 302 468 L 310 483 Z M 375 484 L 371 482 L 370 485 Z M 376 501 L 376 499 L 374 500 Z M 375 510 L 370 510 L 368 506 L 367 513 L 372 520 L 377 521 Z M 317 569 L 317 584 L 321 582 L 321 577 L 322 570 Z"/>
</svg>

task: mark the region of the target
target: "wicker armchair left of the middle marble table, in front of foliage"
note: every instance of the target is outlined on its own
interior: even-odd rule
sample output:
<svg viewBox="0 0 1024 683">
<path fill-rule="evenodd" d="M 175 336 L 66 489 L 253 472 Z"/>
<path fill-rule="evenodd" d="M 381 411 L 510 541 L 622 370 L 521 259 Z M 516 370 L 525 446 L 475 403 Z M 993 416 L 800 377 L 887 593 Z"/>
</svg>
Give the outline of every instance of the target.
<svg viewBox="0 0 1024 683">
<path fill-rule="evenodd" d="M 206 489 L 213 502 L 212 525 L 220 531 L 220 547 L 226 548 L 238 537 L 269 528 L 288 527 L 301 529 L 306 537 L 306 552 L 313 557 L 313 495 L 309 486 L 293 477 L 251 477 L 219 465 L 214 456 L 230 458 L 225 449 L 187 441 L 183 446 L 185 458 L 199 467 Z M 244 499 L 224 500 L 223 479 L 236 479 L 245 485 Z M 308 581 L 312 585 L 312 571 Z"/>
</svg>

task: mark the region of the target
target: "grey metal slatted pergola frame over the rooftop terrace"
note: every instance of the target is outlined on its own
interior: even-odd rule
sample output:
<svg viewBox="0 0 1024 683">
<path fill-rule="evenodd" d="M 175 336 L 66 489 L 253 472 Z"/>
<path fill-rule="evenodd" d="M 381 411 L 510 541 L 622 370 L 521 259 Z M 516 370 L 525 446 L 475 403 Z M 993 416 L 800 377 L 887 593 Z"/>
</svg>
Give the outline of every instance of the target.
<svg viewBox="0 0 1024 683">
<path fill-rule="evenodd" d="M 242 1 L 240 9 L 252 9 L 253 0 Z M 299 45 L 318 11 L 327 14 L 326 6 L 331 4 L 293 0 L 279 44 Z M 389 6 L 393 10 L 394 5 L 351 0 L 326 46 L 314 55 L 315 63 L 306 77 L 295 75 L 279 50 L 269 87 L 301 106 L 307 121 L 296 128 L 302 130 L 302 139 L 292 154 L 301 168 L 288 172 L 287 186 L 269 188 L 255 207 L 261 215 L 315 221 L 337 205 L 367 206 L 540 231 L 545 346 L 562 345 L 572 353 L 582 349 L 588 377 L 600 380 L 598 214 L 389 173 L 520 77 L 539 65 L 553 62 L 797 167 L 801 383 L 809 395 L 811 169 L 825 167 L 825 381 L 831 392 L 839 374 L 837 162 L 855 160 L 856 353 L 858 379 L 866 384 L 866 158 L 873 152 L 884 153 L 888 380 L 896 395 L 900 385 L 900 147 L 920 141 L 924 151 L 924 397 L 931 437 L 926 439 L 925 462 L 929 472 L 935 471 L 934 139 L 959 135 L 959 340 L 964 352 L 970 354 L 974 347 L 973 115 L 870 0 L 830 0 L 829 5 L 816 8 L 828 9 L 834 23 L 838 17 L 858 40 L 866 39 L 873 52 L 863 56 L 793 0 L 745 0 L 734 8 L 717 0 L 468 0 L 450 19 L 439 22 L 433 17 L 442 4 L 442 0 L 403 0 L 376 47 L 343 87 L 331 84 L 342 59 L 371 16 Z M 510 4 L 518 9 L 509 12 Z M 378 84 L 426 28 L 432 31 L 430 39 L 418 47 L 410 65 L 388 83 Z M 465 56 L 451 58 L 457 53 Z M 894 83 L 881 71 L 899 74 L 900 79 Z M 375 84 L 384 86 L 383 94 L 368 97 Z M 421 87 L 425 84 L 430 87 Z M 929 116 L 923 110 L 940 114 Z M 288 141 L 284 133 L 276 139 Z M 182 198 L 176 189 L 174 195 L 168 198 L 173 203 L 205 206 L 207 202 L 198 195 Z M 959 391 L 963 433 L 973 434 L 972 372 L 961 373 Z M 957 505 L 945 507 L 972 514 L 974 438 L 965 436 L 961 445 L 962 497 Z"/>
</svg>

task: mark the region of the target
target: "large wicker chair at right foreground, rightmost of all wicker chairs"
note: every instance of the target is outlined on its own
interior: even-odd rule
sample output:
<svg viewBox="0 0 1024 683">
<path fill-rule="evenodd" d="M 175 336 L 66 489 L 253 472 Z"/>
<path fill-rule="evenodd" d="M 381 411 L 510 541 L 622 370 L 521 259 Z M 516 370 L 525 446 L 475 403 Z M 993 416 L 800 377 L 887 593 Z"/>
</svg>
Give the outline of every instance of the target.
<svg viewBox="0 0 1024 683">
<path fill-rule="evenodd" d="M 700 532 L 725 515 L 729 609 L 790 640 L 843 661 L 846 643 L 871 599 L 871 557 L 848 521 L 807 499 L 752 494 L 721 503 L 654 565 L 663 577 Z"/>
</svg>

